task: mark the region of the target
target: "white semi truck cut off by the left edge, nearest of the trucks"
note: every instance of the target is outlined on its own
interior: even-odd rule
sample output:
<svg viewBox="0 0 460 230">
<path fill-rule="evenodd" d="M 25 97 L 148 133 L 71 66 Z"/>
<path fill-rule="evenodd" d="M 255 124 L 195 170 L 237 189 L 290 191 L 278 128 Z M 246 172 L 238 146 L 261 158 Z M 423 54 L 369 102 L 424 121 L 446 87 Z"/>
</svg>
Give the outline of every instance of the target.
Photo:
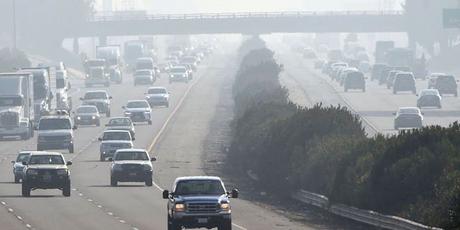
<svg viewBox="0 0 460 230">
<path fill-rule="evenodd" d="M 0 74 L 0 137 L 34 135 L 34 82 L 31 73 Z"/>
</svg>

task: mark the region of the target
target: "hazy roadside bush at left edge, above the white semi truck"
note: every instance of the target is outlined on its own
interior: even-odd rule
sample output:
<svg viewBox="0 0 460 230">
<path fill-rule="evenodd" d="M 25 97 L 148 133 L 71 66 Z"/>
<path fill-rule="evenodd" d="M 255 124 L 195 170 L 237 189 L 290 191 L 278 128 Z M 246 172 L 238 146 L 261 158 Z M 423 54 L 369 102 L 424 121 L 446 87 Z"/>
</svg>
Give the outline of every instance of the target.
<svg viewBox="0 0 460 230">
<path fill-rule="evenodd" d="M 0 72 L 14 72 L 16 67 L 28 67 L 31 63 L 26 54 L 19 50 L 0 49 Z"/>
</svg>

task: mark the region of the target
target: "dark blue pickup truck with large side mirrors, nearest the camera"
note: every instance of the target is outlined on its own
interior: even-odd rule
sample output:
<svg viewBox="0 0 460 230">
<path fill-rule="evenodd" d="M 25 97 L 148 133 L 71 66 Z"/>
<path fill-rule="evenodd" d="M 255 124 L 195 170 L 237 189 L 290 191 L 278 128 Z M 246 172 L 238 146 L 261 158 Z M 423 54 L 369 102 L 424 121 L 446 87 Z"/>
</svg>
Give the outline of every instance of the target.
<svg viewBox="0 0 460 230">
<path fill-rule="evenodd" d="M 229 198 L 238 198 L 238 190 L 225 190 L 219 177 L 179 177 L 173 192 L 163 191 L 168 200 L 168 230 L 185 228 L 232 229 Z"/>
</svg>

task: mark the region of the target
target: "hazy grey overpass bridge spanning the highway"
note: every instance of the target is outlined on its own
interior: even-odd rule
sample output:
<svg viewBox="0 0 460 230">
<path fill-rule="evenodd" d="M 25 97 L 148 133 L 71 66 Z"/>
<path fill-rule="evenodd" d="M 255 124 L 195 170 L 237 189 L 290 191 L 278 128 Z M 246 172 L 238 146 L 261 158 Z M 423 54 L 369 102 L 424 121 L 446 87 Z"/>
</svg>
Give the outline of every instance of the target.
<svg viewBox="0 0 460 230">
<path fill-rule="evenodd" d="M 67 37 L 180 34 L 407 32 L 403 11 L 258 12 L 221 14 L 99 13 Z"/>
</svg>

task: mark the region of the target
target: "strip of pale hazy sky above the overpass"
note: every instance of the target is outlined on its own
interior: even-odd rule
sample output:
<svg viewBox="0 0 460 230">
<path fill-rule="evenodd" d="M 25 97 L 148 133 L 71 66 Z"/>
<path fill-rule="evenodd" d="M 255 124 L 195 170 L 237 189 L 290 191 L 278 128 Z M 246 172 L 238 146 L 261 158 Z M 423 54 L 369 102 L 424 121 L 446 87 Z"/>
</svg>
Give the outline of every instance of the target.
<svg viewBox="0 0 460 230">
<path fill-rule="evenodd" d="M 100 9 L 103 0 L 97 0 Z M 105 0 L 107 1 L 107 0 Z M 404 0 L 112 0 L 116 9 L 133 8 L 156 13 L 381 10 L 400 9 Z"/>
</svg>

